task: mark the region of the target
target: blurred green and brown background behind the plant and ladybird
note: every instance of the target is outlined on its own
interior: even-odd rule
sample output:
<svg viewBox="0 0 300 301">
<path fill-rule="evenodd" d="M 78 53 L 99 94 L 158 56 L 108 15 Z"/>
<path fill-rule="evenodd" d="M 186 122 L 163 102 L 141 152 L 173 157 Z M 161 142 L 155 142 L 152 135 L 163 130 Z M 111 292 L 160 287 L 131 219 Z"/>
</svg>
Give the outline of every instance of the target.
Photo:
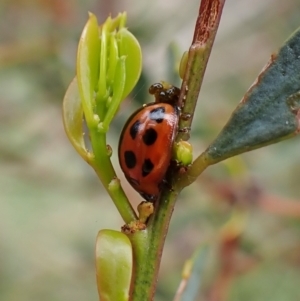
<svg viewBox="0 0 300 301">
<path fill-rule="evenodd" d="M 0 2 L 0 300 L 97 300 L 97 231 L 122 226 L 93 170 L 72 149 L 61 120 L 87 12 L 101 23 L 126 10 L 143 50 L 142 79 L 111 128 L 109 143 L 116 150 L 130 112 L 150 100 L 148 86 L 176 83 L 169 46 L 175 43 L 179 53 L 188 49 L 198 2 Z M 195 155 L 220 131 L 271 52 L 299 26 L 298 0 L 227 0 L 193 124 Z M 234 209 L 248 212 L 234 258 L 247 258 L 250 267 L 237 269 L 226 293 L 213 299 L 220 267 L 208 265 L 210 276 L 203 275 L 207 283 L 198 300 L 300 300 L 299 149 L 298 137 L 227 160 L 183 191 L 156 300 L 172 300 L 184 261 L 218 236 Z M 141 198 L 124 181 L 115 154 L 113 161 L 138 204 Z M 216 263 L 221 253 L 218 239 L 213 241 L 210 260 Z"/>
</svg>

